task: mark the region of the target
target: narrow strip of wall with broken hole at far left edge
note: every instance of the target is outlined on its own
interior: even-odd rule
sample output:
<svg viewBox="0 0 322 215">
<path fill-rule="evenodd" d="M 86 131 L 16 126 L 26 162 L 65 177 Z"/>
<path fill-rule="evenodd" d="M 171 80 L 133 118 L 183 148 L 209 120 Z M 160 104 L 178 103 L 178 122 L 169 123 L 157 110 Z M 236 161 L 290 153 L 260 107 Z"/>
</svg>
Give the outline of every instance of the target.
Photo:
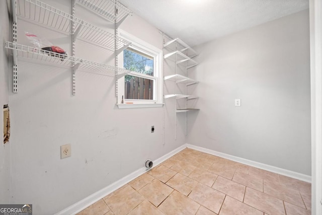
<svg viewBox="0 0 322 215">
<path fill-rule="evenodd" d="M 7 1 L 0 1 L 0 39 L 1 44 L 9 39 L 9 7 Z M 0 46 L 0 131 L 3 133 L 3 111 L 2 108 L 5 104 L 9 104 L 8 95 L 8 73 L 9 73 L 9 58 L 7 50 L 3 45 Z M 0 203 L 8 203 L 10 198 L 10 148 L 11 141 L 0 144 Z"/>
</svg>

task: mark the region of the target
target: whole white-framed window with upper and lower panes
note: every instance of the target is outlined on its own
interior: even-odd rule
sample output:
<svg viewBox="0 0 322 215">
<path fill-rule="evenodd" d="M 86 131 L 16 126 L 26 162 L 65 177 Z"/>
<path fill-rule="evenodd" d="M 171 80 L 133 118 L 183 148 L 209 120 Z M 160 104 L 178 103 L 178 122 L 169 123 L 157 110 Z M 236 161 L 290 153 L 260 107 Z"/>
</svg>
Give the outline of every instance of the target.
<svg viewBox="0 0 322 215">
<path fill-rule="evenodd" d="M 161 107 L 162 50 L 124 31 L 120 36 L 132 44 L 118 56 L 119 66 L 131 71 L 118 80 L 118 107 Z"/>
</svg>

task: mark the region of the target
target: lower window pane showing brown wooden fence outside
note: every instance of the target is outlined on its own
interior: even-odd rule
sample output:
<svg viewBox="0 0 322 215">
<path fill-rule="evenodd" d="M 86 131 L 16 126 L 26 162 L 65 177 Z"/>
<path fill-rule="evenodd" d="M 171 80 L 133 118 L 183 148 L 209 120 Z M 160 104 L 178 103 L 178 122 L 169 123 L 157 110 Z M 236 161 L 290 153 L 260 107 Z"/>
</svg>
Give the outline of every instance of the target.
<svg viewBox="0 0 322 215">
<path fill-rule="evenodd" d="M 125 99 L 153 100 L 154 80 L 125 76 Z"/>
</svg>

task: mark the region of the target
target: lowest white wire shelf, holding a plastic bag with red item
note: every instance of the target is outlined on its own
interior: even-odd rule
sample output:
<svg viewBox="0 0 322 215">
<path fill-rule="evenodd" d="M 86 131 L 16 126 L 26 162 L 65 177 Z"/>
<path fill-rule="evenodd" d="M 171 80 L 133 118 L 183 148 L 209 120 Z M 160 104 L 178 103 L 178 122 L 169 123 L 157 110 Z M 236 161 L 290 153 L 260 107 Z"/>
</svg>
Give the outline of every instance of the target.
<svg viewBox="0 0 322 215">
<path fill-rule="evenodd" d="M 6 42 L 5 47 L 13 50 L 14 52 L 14 61 L 17 60 L 17 56 L 30 58 L 34 60 L 46 61 L 56 65 L 64 65 L 69 67 L 74 67 L 76 69 L 84 69 L 96 71 L 99 73 L 104 73 L 110 76 L 115 76 L 115 71 L 119 77 L 125 76 L 130 73 L 129 70 L 124 68 L 118 68 L 115 66 L 106 65 L 103 63 L 93 62 L 90 60 L 85 60 L 73 56 L 67 56 L 64 54 L 59 54 L 56 52 L 45 51 L 42 49 L 34 48 L 31 46 L 16 44 L 12 42 Z"/>
</svg>

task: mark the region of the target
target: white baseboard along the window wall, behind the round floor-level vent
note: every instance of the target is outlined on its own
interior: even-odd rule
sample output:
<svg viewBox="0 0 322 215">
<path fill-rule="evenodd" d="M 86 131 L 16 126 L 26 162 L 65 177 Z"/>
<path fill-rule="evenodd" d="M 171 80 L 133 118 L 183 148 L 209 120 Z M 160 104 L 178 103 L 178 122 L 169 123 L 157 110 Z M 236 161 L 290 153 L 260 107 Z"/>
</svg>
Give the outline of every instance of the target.
<svg viewBox="0 0 322 215">
<path fill-rule="evenodd" d="M 170 153 L 156 159 L 153 162 L 153 166 L 157 166 L 160 163 L 164 162 L 165 160 L 169 159 L 170 157 L 174 156 L 175 154 L 177 154 L 178 152 L 184 150 L 185 148 L 187 148 L 187 145 L 183 145 L 181 147 L 178 147 L 177 149 L 171 151 Z M 120 180 L 110 184 L 107 187 L 104 187 L 103 189 L 93 193 L 92 195 L 82 199 L 81 201 L 78 201 L 72 205 L 70 205 L 69 207 L 66 207 L 65 209 L 55 213 L 55 215 L 69 215 L 69 214 L 76 214 L 82 210 L 84 210 L 85 208 L 87 208 L 88 206 L 94 204 L 95 202 L 97 202 L 98 200 L 104 198 L 105 196 L 107 196 L 108 194 L 112 193 L 113 191 L 117 190 L 118 188 L 124 186 L 125 184 L 127 184 L 128 182 L 132 181 L 133 179 L 139 177 L 140 175 L 142 175 L 143 173 L 147 172 L 149 169 L 142 167 L 132 173 L 130 173 L 129 175 L 121 178 Z"/>
</svg>

